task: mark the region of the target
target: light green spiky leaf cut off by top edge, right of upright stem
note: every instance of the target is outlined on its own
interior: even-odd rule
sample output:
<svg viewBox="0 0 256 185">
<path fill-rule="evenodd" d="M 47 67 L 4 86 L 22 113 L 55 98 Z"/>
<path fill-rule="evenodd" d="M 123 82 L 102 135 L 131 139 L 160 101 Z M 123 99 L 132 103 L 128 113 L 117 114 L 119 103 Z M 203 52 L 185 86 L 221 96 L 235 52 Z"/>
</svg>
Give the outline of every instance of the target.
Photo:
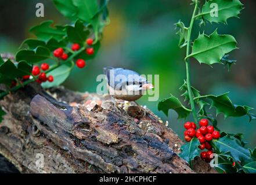
<svg viewBox="0 0 256 185">
<path fill-rule="evenodd" d="M 238 17 L 243 4 L 239 0 L 211 0 L 206 1 L 199 14 L 210 23 L 225 23 L 230 17 Z"/>
</svg>

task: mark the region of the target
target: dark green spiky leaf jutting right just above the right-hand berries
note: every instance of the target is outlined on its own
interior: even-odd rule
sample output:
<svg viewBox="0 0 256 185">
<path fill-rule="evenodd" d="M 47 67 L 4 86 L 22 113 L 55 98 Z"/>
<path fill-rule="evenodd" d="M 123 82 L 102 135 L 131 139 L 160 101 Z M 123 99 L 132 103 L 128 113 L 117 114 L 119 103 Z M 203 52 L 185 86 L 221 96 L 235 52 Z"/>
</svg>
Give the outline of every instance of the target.
<svg viewBox="0 0 256 185">
<path fill-rule="evenodd" d="M 202 97 L 197 97 L 196 99 L 211 99 L 211 107 L 213 106 L 217 110 L 217 115 L 223 113 L 225 117 L 240 117 L 246 116 L 249 111 L 253 108 L 248 106 L 235 105 L 232 103 L 228 97 L 228 92 L 222 95 L 204 95 Z"/>
</svg>

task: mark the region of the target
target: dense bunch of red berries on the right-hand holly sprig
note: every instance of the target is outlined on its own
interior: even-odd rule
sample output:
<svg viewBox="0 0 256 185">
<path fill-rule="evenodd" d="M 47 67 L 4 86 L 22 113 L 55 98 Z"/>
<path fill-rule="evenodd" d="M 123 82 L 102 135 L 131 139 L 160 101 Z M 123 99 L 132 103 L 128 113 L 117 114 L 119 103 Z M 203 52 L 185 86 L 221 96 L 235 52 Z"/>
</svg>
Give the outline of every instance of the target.
<svg viewBox="0 0 256 185">
<path fill-rule="evenodd" d="M 184 132 L 185 140 L 190 142 L 190 140 L 196 136 L 196 138 L 198 138 L 199 142 L 201 143 L 199 149 L 208 150 L 202 151 L 200 156 L 203 160 L 209 162 L 212 160 L 212 146 L 209 142 L 211 142 L 212 139 L 219 139 L 221 135 L 219 134 L 219 131 L 214 131 L 214 127 L 208 125 L 207 119 L 201 119 L 199 125 L 200 128 L 196 129 L 196 124 L 193 122 L 186 122 L 184 124 L 184 127 L 186 128 L 186 131 Z"/>
</svg>

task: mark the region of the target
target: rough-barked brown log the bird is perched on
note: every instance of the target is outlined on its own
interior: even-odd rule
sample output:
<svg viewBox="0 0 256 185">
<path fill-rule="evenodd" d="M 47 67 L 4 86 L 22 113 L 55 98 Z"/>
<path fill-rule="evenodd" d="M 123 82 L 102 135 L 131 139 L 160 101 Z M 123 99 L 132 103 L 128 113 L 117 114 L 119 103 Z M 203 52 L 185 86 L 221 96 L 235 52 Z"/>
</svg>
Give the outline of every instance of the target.
<svg viewBox="0 0 256 185">
<path fill-rule="evenodd" d="M 53 98 L 54 97 L 54 98 Z M 194 171 L 178 157 L 178 135 L 137 105 L 109 95 L 62 87 L 45 92 L 31 84 L 6 96 L 0 153 L 20 172 L 209 173 L 197 158 Z M 38 165 L 44 156 L 44 166 Z"/>
</svg>

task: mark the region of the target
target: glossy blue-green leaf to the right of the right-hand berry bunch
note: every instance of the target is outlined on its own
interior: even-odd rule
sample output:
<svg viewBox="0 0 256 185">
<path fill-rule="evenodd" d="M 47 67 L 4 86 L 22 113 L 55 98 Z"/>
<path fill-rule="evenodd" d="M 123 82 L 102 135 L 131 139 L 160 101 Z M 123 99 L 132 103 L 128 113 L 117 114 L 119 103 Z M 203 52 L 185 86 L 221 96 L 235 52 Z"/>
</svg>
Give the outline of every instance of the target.
<svg viewBox="0 0 256 185">
<path fill-rule="evenodd" d="M 213 139 L 211 143 L 212 146 L 222 154 L 230 153 L 230 156 L 232 156 L 235 161 L 240 161 L 241 165 L 254 161 L 254 158 L 251 157 L 250 150 L 241 146 L 237 139 L 230 138 L 228 135 L 219 139 Z"/>
</svg>

